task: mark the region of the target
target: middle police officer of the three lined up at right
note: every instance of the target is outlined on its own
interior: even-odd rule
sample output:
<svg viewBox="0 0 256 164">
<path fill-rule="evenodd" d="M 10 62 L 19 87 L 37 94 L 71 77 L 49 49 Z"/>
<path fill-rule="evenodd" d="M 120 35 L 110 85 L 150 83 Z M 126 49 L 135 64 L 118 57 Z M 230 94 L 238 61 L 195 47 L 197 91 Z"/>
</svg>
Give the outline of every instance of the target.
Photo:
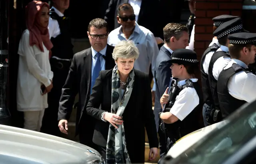
<svg viewBox="0 0 256 164">
<path fill-rule="evenodd" d="M 228 52 L 228 35 L 241 32 L 242 30 L 242 19 L 235 18 L 221 24 L 213 33 L 220 43 L 220 48 L 212 55 L 208 68 L 208 80 L 213 98 L 212 109 L 210 113 L 206 113 L 208 124 L 217 123 L 222 120 L 217 94 L 218 76 L 222 69 L 231 61 Z"/>
</svg>

